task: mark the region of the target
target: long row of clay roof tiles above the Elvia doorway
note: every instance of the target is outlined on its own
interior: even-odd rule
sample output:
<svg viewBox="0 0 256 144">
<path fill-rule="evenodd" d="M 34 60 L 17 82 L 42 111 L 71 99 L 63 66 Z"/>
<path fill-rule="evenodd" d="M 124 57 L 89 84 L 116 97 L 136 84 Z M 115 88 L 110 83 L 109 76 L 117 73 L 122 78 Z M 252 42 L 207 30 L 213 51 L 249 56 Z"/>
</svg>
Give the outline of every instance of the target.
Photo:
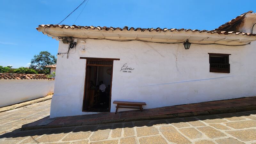
<svg viewBox="0 0 256 144">
<path fill-rule="evenodd" d="M 252 12 L 252 11 L 250 11 Z M 94 27 L 94 26 L 76 26 L 76 25 L 72 25 L 72 26 L 67 26 L 67 25 L 53 25 L 53 24 L 48 24 L 48 25 L 39 25 L 36 29 L 40 29 L 40 28 L 64 28 L 64 29 L 96 29 L 96 30 L 106 30 L 106 31 L 114 31 L 114 30 L 120 30 L 120 31 L 124 31 L 124 30 L 128 30 L 128 31 L 141 31 L 141 32 L 144 32 L 144 31 L 149 31 L 149 32 L 152 32 L 152 31 L 163 31 L 163 32 L 166 32 L 166 31 L 176 31 L 176 32 L 179 32 L 179 31 L 186 31 L 186 32 L 199 32 L 199 33 L 210 33 L 210 34 L 214 34 L 214 33 L 217 33 L 217 34 L 224 34 L 224 35 L 228 35 L 228 34 L 235 34 L 235 35 L 246 35 L 246 36 L 256 36 L 256 34 L 251 34 L 251 33 L 242 33 L 242 32 L 236 32 L 236 31 L 220 31 L 220 30 L 198 30 L 198 29 L 184 29 L 184 28 L 180 28 L 180 29 L 177 29 L 177 28 L 170 28 L 170 29 L 167 29 L 167 28 L 128 28 L 127 26 L 125 26 L 124 28 L 113 28 L 113 27 Z"/>
</svg>

